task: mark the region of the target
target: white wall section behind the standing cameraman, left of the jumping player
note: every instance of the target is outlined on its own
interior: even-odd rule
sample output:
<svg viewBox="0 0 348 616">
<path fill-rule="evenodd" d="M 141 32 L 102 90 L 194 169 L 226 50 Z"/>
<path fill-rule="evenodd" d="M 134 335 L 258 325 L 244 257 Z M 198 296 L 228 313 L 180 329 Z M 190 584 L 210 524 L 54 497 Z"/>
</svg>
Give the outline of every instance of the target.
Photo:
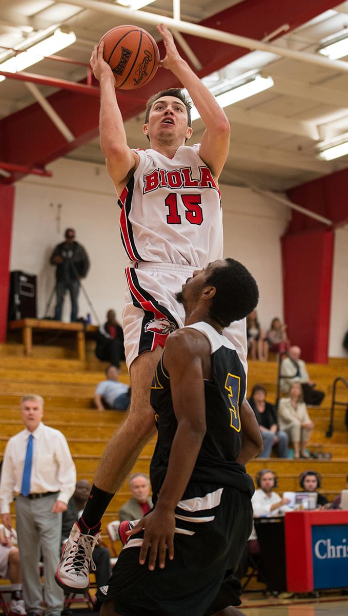
<svg viewBox="0 0 348 616">
<path fill-rule="evenodd" d="M 90 271 L 83 284 L 98 317 L 103 320 L 111 307 L 121 317 L 122 272 L 127 259 L 119 233 L 116 193 L 105 167 L 62 159 L 50 169 L 52 178 L 30 176 L 16 186 L 10 268 L 38 275 L 38 316 L 43 317 L 55 283 L 55 267 L 49 264 L 49 257 L 63 241 L 66 227 L 73 227 L 90 257 Z M 53 299 L 50 315 L 54 303 Z M 68 299 L 64 320 L 69 320 L 69 307 Z M 83 293 L 79 309 L 80 315 L 90 312 Z"/>
</svg>

